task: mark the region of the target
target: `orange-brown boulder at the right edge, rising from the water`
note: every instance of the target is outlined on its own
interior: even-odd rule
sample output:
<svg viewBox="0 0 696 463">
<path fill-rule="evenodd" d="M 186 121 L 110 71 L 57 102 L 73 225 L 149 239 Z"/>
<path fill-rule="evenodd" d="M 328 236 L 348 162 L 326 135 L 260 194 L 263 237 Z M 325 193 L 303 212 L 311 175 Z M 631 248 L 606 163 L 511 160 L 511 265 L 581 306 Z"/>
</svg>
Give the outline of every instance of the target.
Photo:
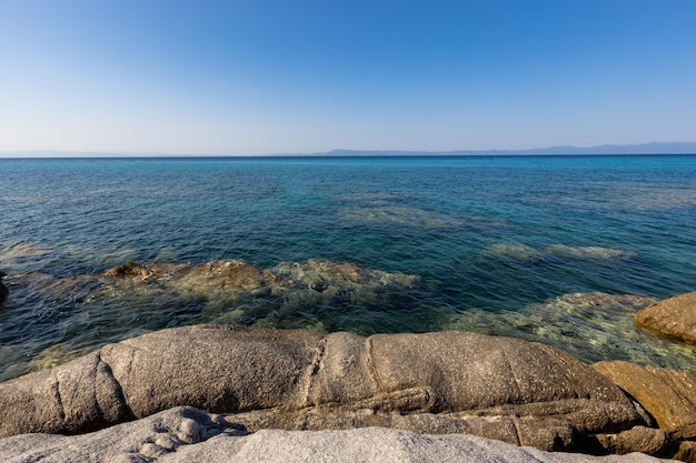
<svg viewBox="0 0 696 463">
<path fill-rule="evenodd" d="M 665 336 L 696 342 L 696 292 L 643 309 L 636 314 L 636 323 Z"/>
</svg>

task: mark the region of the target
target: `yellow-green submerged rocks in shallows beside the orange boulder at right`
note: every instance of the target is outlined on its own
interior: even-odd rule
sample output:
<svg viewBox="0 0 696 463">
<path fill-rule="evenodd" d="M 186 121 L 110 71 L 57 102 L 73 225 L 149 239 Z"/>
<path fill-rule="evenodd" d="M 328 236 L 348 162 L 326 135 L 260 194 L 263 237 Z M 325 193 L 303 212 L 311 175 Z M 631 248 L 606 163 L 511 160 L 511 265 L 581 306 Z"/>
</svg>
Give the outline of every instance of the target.
<svg viewBox="0 0 696 463">
<path fill-rule="evenodd" d="M 696 345 L 638 328 L 636 312 L 655 299 L 632 294 L 569 293 L 518 310 L 469 309 L 448 315 L 443 329 L 539 341 L 586 362 L 627 360 L 696 373 Z"/>
</svg>

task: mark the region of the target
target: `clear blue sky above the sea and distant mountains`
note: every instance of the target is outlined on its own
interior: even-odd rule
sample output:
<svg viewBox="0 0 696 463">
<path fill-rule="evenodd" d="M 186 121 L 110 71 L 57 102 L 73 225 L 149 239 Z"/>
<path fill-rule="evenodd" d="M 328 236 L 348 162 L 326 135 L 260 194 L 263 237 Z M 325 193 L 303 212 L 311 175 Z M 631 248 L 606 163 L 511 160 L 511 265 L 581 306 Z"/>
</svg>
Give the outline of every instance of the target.
<svg viewBox="0 0 696 463">
<path fill-rule="evenodd" d="M 0 151 L 696 141 L 696 1 L 0 0 Z"/>
</svg>

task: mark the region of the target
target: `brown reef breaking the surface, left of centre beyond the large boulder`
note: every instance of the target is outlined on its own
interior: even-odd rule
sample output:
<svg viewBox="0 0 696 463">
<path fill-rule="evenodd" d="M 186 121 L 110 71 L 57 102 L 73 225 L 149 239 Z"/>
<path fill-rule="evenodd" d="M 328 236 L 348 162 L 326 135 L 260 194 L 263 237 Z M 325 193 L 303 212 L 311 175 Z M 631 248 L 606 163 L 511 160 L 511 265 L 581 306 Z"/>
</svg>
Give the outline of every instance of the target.
<svg viewBox="0 0 696 463">
<path fill-rule="evenodd" d="M 155 263 L 148 266 L 128 262 L 103 272 L 99 280 L 106 291 L 125 288 L 138 294 L 196 293 L 213 305 L 245 304 L 264 312 L 266 305 L 307 308 L 328 305 L 337 300 L 361 304 L 381 300 L 415 286 L 416 275 L 388 273 L 350 262 L 310 259 L 305 263 L 281 262 L 260 269 L 240 260 L 215 261 L 200 265 Z M 268 312 L 268 310 L 266 310 Z"/>
</svg>

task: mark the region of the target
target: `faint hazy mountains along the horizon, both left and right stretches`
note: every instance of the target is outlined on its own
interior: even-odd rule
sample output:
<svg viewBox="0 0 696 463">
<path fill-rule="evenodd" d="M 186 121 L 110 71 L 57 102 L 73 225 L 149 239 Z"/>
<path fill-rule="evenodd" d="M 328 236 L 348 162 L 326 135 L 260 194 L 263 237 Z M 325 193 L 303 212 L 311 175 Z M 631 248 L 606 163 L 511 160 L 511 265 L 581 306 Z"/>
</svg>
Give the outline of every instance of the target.
<svg viewBox="0 0 696 463">
<path fill-rule="evenodd" d="M 459 151 L 361 151 L 334 150 L 318 153 L 278 153 L 282 157 L 396 157 L 396 155 L 578 155 L 578 154 L 696 154 L 696 142 L 601 144 L 598 147 L 551 147 L 529 150 L 459 150 Z M 199 154 L 170 154 L 155 152 L 98 152 L 98 151 L 0 151 L 0 158 L 169 158 Z M 215 157 L 223 157 L 217 154 Z"/>
</svg>

